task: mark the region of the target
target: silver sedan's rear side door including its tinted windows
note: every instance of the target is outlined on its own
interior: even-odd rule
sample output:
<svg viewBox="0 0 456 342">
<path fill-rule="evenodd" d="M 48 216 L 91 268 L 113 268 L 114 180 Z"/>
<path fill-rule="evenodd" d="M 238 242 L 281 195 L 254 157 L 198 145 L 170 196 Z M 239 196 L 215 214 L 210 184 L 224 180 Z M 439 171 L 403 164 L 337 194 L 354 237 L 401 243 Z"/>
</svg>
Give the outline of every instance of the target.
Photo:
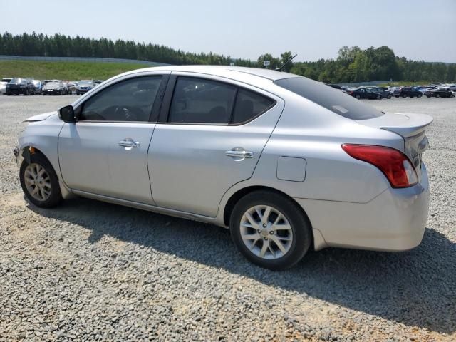
<svg viewBox="0 0 456 342">
<path fill-rule="evenodd" d="M 157 205 L 214 217 L 252 177 L 284 101 L 244 83 L 173 73 L 147 155 Z"/>
</svg>

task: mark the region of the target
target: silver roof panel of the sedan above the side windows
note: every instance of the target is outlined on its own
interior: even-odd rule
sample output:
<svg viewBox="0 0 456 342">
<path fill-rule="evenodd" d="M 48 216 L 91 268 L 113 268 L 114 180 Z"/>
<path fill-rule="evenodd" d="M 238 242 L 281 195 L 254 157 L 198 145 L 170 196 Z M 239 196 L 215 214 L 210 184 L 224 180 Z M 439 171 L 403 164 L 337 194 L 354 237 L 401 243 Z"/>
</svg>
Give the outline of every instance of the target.
<svg viewBox="0 0 456 342">
<path fill-rule="evenodd" d="M 123 75 L 146 71 L 187 71 L 191 73 L 207 73 L 215 76 L 227 76 L 228 74 L 231 74 L 234 78 L 236 78 L 236 73 L 247 73 L 252 76 L 267 78 L 271 81 L 280 80 L 282 78 L 300 77 L 293 73 L 284 73 L 271 69 L 247 68 L 243 66 L 157 66 L 128 71 L 128 73 L 124 73 Z"/>
</svg>

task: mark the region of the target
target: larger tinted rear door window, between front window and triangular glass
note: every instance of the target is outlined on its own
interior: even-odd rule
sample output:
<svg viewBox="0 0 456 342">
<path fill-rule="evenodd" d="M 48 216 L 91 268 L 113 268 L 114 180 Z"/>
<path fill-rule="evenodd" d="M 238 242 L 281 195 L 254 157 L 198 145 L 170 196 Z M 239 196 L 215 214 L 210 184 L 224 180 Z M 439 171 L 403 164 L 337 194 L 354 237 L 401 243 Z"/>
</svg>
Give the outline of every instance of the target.
<svg viewBox="0 0 456 342">
<path fill-rule="evenodd" d="M 172 95 L 170 123 L 220 123 L 231 118 L 236 87 L 202 78 L 179 77 Z"/>
</svg>

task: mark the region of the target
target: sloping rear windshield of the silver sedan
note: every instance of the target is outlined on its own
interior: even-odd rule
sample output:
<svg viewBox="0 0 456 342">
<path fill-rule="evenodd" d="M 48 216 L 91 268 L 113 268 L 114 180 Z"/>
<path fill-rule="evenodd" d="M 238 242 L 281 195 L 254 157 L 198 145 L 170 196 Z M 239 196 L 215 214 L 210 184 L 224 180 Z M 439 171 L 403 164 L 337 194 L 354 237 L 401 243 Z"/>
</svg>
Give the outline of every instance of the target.
<svg viewBox="0 0 456 342">
<path fill-rule="evenodd" d="M 311 80 L 310 78 L 282 78 L 274 81 L 274 83 L 344 118 L 366 120 L 378 118 L 383 115 L 379 110 L 366 105 L 360 100 L 356 100 L 356 98 L 343 93 L 343 91 L 328 87 L 326 84 Z"/>
</svg>

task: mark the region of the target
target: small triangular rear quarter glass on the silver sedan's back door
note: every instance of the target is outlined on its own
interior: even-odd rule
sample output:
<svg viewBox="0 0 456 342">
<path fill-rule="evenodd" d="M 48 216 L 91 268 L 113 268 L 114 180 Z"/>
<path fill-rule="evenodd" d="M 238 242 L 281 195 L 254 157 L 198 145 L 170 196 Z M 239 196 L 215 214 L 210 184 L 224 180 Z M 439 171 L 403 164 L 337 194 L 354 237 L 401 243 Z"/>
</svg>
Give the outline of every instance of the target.
<svg viewBox="0 0 456 342">
<path fill-rule="evenodd" d="M 266 98 L 253 91 L 239 89 L 237 92 L 236 105 L 234 105 L 232 123 L 245 123 L 246 121 L 252 120 L 271 108 L 272 105 L 274 105 L 274 100 L 271 100 L 270 98 Z"/>
</svg>

